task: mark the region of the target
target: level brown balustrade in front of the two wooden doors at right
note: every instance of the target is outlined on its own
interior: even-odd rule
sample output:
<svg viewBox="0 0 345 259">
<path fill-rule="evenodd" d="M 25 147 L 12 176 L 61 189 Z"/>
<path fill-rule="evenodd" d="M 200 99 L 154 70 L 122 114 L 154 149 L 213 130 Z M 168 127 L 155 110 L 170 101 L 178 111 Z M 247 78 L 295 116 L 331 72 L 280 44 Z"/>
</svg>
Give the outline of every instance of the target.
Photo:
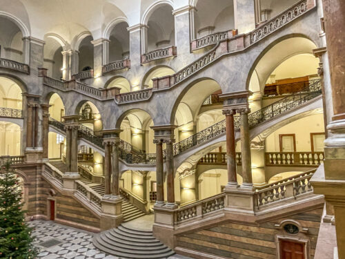
<svg viewBox="0 0 345 259">
<path fill-rule="evenodd" d="M 324 152 L 266 152 L 266 166 L 319 166 Z"/>
</svg>

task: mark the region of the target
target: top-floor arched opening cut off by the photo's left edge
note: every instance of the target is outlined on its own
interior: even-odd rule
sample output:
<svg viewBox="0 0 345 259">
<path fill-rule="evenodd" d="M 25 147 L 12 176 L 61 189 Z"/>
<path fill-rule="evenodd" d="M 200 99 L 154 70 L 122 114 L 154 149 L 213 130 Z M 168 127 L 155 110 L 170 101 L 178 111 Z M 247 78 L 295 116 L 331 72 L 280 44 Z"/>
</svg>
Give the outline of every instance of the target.
<svg viewBox="0 0 345 259">
<path fill-rule="evenodd" d="M 0 17 L 0 58 L 25 62 L 23 33 L 14 22 Z"/>
</svg>

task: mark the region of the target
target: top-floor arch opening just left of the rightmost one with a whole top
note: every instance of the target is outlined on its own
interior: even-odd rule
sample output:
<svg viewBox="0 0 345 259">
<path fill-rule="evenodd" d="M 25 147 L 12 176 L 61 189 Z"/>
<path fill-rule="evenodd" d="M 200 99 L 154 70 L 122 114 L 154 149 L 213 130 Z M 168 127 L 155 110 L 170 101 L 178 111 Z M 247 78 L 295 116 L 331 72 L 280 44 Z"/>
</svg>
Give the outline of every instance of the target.
<svg viewBox="0 0 345 259">
<path fill-rule="evenodd" d="M 110 32 L 109 43 L 109 61 L 117 61 L 121 59 L 129 59 L 129 32 L 127 30 L 128 23 L 123 21 Z"/>
</svg>

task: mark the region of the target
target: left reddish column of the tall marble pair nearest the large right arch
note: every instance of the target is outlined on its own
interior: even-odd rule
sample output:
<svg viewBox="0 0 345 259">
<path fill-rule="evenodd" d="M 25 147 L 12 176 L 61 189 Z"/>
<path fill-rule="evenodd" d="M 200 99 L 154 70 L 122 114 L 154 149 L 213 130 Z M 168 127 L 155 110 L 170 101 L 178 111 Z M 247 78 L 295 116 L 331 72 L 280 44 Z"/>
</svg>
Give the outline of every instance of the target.
<svg viewBox="0 0 345 259">
<path fill-rule="evenodd" d="M 235 110 L 226 109 L 223 110 L 223 114 L 226 116 L 226 160 L 228 169 L 228 187 L 237 187 L 237 171 L 236 171 L 236 143 L 235 143 L 235 126 L 234 115 Z"/>
</svg>

